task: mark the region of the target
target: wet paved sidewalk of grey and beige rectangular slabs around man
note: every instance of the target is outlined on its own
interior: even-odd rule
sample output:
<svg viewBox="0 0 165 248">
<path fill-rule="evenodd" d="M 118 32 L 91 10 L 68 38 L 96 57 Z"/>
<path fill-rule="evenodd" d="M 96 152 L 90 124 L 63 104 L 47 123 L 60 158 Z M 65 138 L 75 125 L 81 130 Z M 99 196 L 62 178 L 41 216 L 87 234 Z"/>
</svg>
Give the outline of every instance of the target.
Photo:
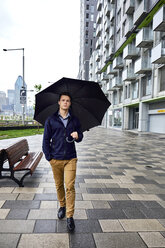
<svg viewBox="0 0 165 248">
<path fill-rule="evenodd" d="M 42 136 L 27 140 L 31 151 L 41 150 Z M 165 247 L 164 135 L 94 128 L 77 149 L 74 234 L 66 219 L 57 219 L 52 171 L 43 157 L 24 188 L 0 180 L 0 248 Z"/>
</svg>

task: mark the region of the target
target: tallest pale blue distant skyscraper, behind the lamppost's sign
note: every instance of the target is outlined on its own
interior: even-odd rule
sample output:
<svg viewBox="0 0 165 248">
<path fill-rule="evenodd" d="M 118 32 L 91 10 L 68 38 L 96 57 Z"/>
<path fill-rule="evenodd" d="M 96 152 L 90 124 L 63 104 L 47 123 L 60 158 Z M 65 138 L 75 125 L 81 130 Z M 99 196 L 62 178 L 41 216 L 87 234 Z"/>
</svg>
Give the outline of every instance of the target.
<svg viewBox="0 0 165 248">
<path fill-rule="evenodd" d="M 23 79 L 22 76 L 18 76 L 16 82 L 15 82 L 15 101 L 14 101 L 14 111 L 16 114 L 22 114 L 22 105 L 20 104 L 20 90 L 23 86 Z M 27 90 L 27 85 L 24 82 L 25 90 Z M 25 104 L 25 111 L 26 111 L 26 104 Z"/>
</svg>

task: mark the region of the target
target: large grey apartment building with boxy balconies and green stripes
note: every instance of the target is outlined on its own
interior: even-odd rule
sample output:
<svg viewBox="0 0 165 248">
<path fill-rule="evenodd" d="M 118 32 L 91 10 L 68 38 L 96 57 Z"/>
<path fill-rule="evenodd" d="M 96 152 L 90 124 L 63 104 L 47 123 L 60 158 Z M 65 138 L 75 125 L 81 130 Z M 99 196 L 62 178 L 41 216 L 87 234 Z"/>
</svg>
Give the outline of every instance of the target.
<svg viewBox="0 0 165 248">
<path fill-rule="evenodd" d="M 98 0 L 89 80 L 107 94 L 105 126 L 165 133 L 165 0 Z"/>
</svg>

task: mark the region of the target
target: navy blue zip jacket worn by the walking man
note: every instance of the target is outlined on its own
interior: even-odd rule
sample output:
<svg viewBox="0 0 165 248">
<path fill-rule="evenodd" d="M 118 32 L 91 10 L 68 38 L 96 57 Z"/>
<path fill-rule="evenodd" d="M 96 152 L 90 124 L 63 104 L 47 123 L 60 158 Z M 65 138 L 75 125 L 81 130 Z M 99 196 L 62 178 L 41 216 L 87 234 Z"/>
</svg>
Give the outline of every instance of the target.
<svg viewBox="0 0 165 248">
<path fill-rule="evenodd" d="M 68 160 L 77 158 L 75 142 L 69 143 L 66 141 L 66 137 L 69 140 L 73 139 L 70 134 L 74 131 L 78 133 L 76 142 L 80 142 L 83 139 L 80 122 L 71 113 L 66 127 L 60 120 L 58 111 L 48 117 L 45 122 L 42 144 L 43 152 L 48 161 L 51 159 Z"/>
</svg>

